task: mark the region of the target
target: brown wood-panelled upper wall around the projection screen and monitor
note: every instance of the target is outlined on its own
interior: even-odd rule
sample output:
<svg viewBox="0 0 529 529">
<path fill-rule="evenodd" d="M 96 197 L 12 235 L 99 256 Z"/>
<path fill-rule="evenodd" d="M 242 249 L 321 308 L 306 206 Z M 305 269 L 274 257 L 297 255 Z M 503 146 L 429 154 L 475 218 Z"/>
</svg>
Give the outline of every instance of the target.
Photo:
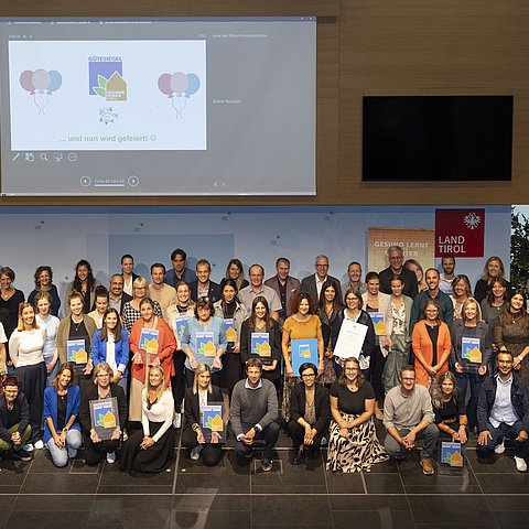
<svg viewBox="0 0 529 529">
<path fill-rule="evenodd" d="M 529 203 L 529 2 L 525 0 L 26 0 L 0 15 L 317 15 L 317 196 L 145 197 L 141 204 Z M 512 182 L 361 182 L 366 94 L 512 94 Z M 116 204 L 115 197 L 0 205 Z M 119 204 L 138 204 L 123 197 Z"/>
</svg>

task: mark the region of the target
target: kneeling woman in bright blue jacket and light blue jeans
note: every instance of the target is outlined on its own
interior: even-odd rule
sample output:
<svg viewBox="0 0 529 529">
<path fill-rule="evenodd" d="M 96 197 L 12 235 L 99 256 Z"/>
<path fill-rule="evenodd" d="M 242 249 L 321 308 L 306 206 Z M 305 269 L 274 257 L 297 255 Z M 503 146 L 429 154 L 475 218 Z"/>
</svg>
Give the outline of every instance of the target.
<svg viewBox="0 0 529 529">
<path fill-rule="evenodd" d="M 62 467 L 68 457 L 77 455 L 80 446 L 79 417 L 80 390 L 72 385 L 74 366 L 63 364 L 52 386 L 44 390 L 44 444 L 53 464 Z"/>
</svg>

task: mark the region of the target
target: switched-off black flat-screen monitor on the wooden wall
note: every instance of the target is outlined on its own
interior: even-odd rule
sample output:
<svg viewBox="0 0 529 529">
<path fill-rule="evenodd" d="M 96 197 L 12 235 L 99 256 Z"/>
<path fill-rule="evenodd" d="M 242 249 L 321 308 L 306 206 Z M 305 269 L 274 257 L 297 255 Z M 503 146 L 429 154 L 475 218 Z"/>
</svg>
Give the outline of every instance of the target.
<svg viewBox="0 0 529 529">
<path fill-rule="evenodd" d="M 514 97 L 365 96 L 363 181 L 510 181 Z"/>
</svg>

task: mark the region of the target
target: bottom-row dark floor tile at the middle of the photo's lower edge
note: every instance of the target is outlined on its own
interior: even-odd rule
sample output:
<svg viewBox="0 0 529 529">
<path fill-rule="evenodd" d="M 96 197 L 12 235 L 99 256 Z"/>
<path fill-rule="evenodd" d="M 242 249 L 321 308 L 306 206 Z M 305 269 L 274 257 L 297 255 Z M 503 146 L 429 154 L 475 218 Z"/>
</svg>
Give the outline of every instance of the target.
<svg viewBox="0 0 529 529">
<path fill-rule="evenodd" d="M 331 520 L 325 496 L 274 496 L 272 499 L 268 495 L 252 495 L 251 514 L 255 525 L 326 526 Z"/>
</svg>

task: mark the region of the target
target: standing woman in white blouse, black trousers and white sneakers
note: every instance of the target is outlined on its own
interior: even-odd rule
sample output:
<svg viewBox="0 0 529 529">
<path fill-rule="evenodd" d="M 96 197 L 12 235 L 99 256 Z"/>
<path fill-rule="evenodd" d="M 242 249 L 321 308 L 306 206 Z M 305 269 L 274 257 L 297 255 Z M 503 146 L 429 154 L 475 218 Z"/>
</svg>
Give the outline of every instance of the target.
<svg viewBox="0 0 529 529">
<path fill-rule="evenodd" d="M 30 406 L 31 438 L 24 446 L 26 452 L 44 447 L 41 427 L 47 375 L 42 353 L 45 343 L 46 328 L 36 323 L 34 306 L 26 302 L 20 303 L 19 325 L 9 338 L 9 354 Z"/>
</svg>

